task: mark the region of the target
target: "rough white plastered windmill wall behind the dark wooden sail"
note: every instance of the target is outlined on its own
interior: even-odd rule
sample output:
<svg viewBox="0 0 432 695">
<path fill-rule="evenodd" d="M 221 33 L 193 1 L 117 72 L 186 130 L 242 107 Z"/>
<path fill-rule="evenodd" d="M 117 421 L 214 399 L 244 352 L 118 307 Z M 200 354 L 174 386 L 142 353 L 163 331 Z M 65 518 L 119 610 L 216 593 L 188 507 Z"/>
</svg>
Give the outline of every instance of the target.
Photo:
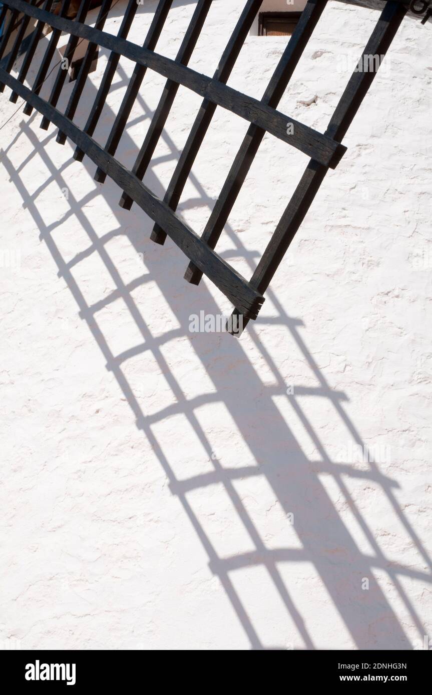
<svg viewBox="0 0 432 695">
<path fill-rule="evenodd" d="M 161 52 L 175 55 L 194 6 L 174 2 Z M 214 2 L 192 67 L 214 72 L 241 6 Z M 139 8 L 132 40 L 154 7 Z M 349 77 L 341 55 L 360 56 L 376 17 L 330 2 L 281 110 L 323 131 Z M 430 40 L 430 24 L 403 24 L 240 340 L 189 332 L 192 313 L 229 304 L 184 282 L 181 252 L 152 244 L 150 220 L 119 208 L 118 187 L 96 184 L 53 126 L 19 112 L 3 128 L 3 648 L 411 649 L 432 637 Z M 230 84 L 262 95 L 285 42 L 250 36 Z M 120 62 L 100 142 L 132 68 Z M 162 86 L 147 75 L 118 150 L 129 166 Z M 199 104 L 179 91 L 145 179 L 159 195 Z M 216 111 L 180 206 L 197 231 L 246 127 Z M 306 162 L 266 136 L 218 245 L 246 275 Z"/>
</svg>

